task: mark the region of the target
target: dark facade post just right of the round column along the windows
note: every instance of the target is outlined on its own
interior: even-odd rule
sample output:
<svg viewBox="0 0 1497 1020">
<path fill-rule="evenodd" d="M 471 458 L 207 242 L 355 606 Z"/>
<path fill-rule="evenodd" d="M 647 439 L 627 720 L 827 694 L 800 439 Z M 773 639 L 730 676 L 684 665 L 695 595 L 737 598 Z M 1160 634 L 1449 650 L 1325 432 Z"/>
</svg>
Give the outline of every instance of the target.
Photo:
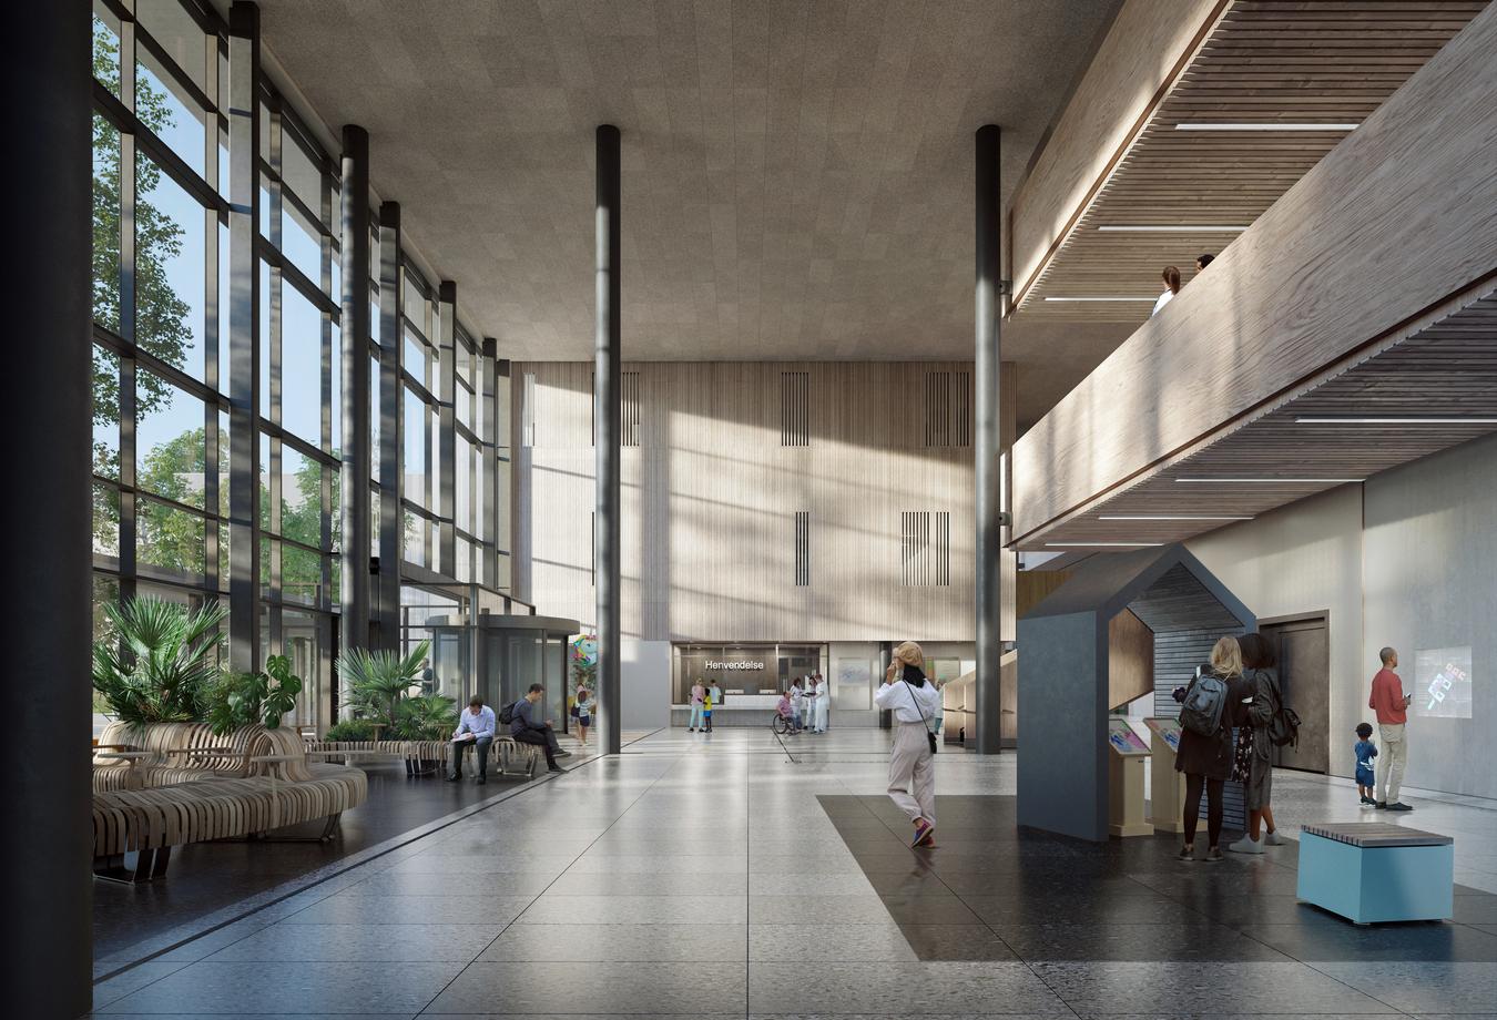
<svg viewBox="0 0 1497 1020">
<path fill-rule="evenodd" d="M 388 652 L 400 649 L 400 562 L 406 548 L 400 506 L 406 490 L 401 475 L 406 383 L 400 379 L 403 291 L 400 204 L 383 202 L 379 207 L 379 584 L 374 619 L 379 622 L 379 647 Z"/>
</svg>

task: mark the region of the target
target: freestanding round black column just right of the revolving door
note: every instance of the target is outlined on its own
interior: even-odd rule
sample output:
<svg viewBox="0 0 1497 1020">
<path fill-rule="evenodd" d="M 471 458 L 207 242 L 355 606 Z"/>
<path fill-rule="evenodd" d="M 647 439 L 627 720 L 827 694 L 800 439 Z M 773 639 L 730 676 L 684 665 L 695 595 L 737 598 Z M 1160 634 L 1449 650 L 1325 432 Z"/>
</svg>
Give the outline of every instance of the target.
<svg viewBox="0 0 1497 1020">
<path fill-rule="evenodd" d="M 597 698 L 603 716 L 603 753 L 623 746 L 618 683 L 620 631 L 620 526 L 618 526 L 618 424 L 620 424 L 620 318 L 618 318 L 618 129 L 597 129 L 597 334 L 594 337 L 593 421 L 597 452 L 597 514 L 593 523 L 594 569 L 597 572 Z"/>
</svg>

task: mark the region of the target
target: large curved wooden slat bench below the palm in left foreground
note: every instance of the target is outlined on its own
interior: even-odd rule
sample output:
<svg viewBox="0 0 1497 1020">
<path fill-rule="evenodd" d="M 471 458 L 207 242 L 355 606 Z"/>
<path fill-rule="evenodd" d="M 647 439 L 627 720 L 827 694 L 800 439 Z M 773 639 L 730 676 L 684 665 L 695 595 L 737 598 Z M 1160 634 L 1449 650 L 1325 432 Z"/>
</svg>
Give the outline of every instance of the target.
<svg viewBox="0 0 1497 1020">
<path fill-rule="evenodd" d="M 154 726 L 145 726 L 135 735 L 147 744 L 168 743 L 151 729 Z M 341 813 L 368 798 L 368 777 L 361 770 L 310 764 L 296 732 L 263 726 L 247 726 L 246 731 L 220 738 L 226 741 L 223 746 L 243 746 L 253 752 L 232 759 L 232 770 L 196 768 L 207 774 L 162 782 L 193 770 L 157 765 L 141 773 L 147 783 L 141 789 L 99 789 L 97 771 L 123 773 L 129 765 L 96 768 L 94 873 L 117 881 L 159 878 L 166 872 L 172 846 L 263 836 L 319 818 L 325 818 L 326 825 L 317 839 L 328 839 Z M 181 735 L 172 734 L 174 738 Z M 211 747 L 204 750 L 202 758 L 208 764 L 225 764 L 220 752 Z M 114 785 L 117 779 L 111 776 L 105 782 Z"/>
</svg>

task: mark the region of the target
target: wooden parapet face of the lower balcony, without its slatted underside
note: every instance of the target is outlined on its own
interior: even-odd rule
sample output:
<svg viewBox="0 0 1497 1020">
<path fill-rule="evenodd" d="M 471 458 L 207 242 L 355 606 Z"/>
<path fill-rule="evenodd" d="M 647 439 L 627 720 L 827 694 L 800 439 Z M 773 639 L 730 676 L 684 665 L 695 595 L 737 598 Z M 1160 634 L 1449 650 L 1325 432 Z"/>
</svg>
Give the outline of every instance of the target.
<svg viewBox="0 0 1497 1020">
<path fill-rule="evenodd" d="M 1497 268 L 1488 7 L 1016 445 L 1015 536 Z"/>
</svg>

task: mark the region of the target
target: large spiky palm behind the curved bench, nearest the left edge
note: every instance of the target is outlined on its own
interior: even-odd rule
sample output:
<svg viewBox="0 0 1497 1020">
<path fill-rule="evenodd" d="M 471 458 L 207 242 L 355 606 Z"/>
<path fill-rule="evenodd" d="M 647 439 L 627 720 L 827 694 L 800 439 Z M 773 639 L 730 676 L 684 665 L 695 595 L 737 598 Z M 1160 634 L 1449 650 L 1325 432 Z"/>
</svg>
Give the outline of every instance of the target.
<svg viewBox="0 0 1497 1020">
<path fill-rule="evenodd" d="M 208 708 L 228 610 L 142 598 L 106 605 L 115 638 L 94 643 L 93 686 L 117 719 L 196 722 Z"/>
</svg>

